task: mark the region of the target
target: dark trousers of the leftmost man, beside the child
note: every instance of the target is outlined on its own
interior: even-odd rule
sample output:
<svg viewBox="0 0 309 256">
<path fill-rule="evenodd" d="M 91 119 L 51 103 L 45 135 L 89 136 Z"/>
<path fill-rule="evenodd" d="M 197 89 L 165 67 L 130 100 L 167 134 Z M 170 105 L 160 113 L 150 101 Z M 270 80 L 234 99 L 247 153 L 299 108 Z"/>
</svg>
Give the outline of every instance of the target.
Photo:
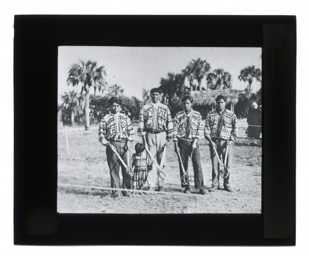
<svg viewBox="0 0 309 256">
<path fill-rule="evenodd" d="M 125 162 L 126 165 L 128 165 L 127 161 L 127 151 L 124 151 L 124 142 L 111 142 L 116 150 L 117 153 L 121 156 L 123 161 Z M 121 172 L 122 172 L 122 188 L 127 188 L 131 189 L 131 184 L 132 184 L 132 177 L 126 172 L 126 168 L 123 166 L 121 161 L 119 160 L 118 156 L 109 148 L 106 148 L 106 157 L 107 157 L 107 163 L 109 167 L 109 172 L 110 172 L 110 185 L 112 188 L 121 188 L 120 186 L 120 177 L 119 177 L 119 167 L 121 166 Z M 121 191 L 119 190 L 112 190 L 112 194 L 119 195 L 121 194 Z M 125 195 L 126 192 L 123 191 L 123 194 Z"/>
</svg>

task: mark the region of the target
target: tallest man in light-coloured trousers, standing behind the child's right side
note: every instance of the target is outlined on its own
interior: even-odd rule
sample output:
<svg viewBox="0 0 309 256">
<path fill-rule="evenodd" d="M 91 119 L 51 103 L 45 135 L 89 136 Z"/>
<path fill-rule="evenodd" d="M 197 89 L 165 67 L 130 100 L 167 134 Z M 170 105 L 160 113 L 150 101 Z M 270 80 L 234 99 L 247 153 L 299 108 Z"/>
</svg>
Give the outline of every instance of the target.
<svg viewBox="0 0 309 256">
<path fill-rule="evenodd" d="M 168 147 L 172 136 L 172 121 L 167 105 L 160 102 L 162 91 L 160 88 L 150 90 L 151 102 L 144 105 L 140 112 L 138 135 L 143 137 L 145 148 L 161 164 L 164 147 Z M 163 168 L 165 166 L 165 161 Z M 158 169 L 152 162 L 152 170 L 148 173 L 149 190 L 156 187 Z M 158 191 L 163 190 L 163 181 L 159 182 Z"/>
</svg>

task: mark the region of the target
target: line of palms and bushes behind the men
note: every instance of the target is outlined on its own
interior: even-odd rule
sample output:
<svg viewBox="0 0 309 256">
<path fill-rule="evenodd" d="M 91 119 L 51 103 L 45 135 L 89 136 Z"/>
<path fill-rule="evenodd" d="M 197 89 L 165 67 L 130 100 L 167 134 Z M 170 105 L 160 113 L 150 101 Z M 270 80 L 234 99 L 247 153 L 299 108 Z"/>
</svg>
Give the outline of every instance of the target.
<svg viewBox="0 0 309 256">
<path fill-rule="evenodd" d="M 143 89 L 142 99 L 136 96 L 127 97 L 124 89 L 118 84 L 107 85 L 106 70 L 104 66 L 98 67 L 96 61 L 83 61 L 71 65 L 67 85 L 82 85 L 81 93 L 69 91 L 61 95 L 63 103 L 59 104 L 61 120 L 64 125 L 85 125 L 88 130 L 90 123 L 97 124 L 101 118 L 109 112 L 108 99 L 111 96 L 119 96 L 122 99 L 122 112 L 127 114 L 133 122 L 138 120 L 139 112 L 145 103 L 150 102 L 148 90 Z M 205 79 L 206 88 L 202 86 Z M 238 79 L 247 82 L 247 87 L 243 91 L 238 91 L 238 103 L 235 106 L 235 113 L 238 117 L 245 117 L 248 105 L 253 101 L 261 104 L 261 89 L 257 93 L 252 93 L 252 82 L 254 79 L 261 82 L 261 70 L 255 66 L 245 67 L 240 71 Z M 210 70 L 210 65 L 201 58 L 192 59 L 179 74 L 168 73 L 165 78 L 161 78 L 160 86 L 162 90 L 162 103 L 168 105 L 171 115 L 175 116 L 182 108 L 181 98 L 192 91 L 205 90 L 231 90 L 231 75 L 217 68 Z M 94 94 L 90 94 L 93 88 Z M 96 92 L 105 92 L 105 95 L 97 95 Z M 192 106 L 200 111 L 203 118 L 213 106 L 211 104 Z"/>
</svg>

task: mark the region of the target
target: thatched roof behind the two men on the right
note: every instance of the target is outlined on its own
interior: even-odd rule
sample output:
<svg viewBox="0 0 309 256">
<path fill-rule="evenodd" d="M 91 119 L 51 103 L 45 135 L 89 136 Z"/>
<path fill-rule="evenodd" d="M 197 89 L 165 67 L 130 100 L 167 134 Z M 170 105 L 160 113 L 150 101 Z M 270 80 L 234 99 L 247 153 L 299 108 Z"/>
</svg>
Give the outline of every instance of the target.
<svg viewBox="0 0 309 256">
<path fill-rule="evenodd" d="M 194 103 L 197 105 L 214 105 L 216 104 L 216 98 L 219 94 L 225 95 L 227 98 L 227 104 L 238 102 L 238 91 L 230 89 L 222 90 L 210 90 L 205 91 L 191 91 L 190 96 L 193 97 Z"/>
</svg>

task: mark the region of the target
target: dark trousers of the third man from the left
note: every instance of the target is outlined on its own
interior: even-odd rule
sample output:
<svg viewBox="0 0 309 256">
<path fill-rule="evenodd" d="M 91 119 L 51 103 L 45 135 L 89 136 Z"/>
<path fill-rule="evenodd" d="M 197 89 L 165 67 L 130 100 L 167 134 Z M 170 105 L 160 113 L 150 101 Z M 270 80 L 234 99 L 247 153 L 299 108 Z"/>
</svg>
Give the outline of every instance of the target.
<svg viewBox="0 0 309 256">
<path fill-rule="evenodd" d="M 178 141 L 178 147 L 180 149 L 180 157 L 183 163 L 185 170 L 188 168 L 188 160 L 189 156 L 191 155 L 191 145 L 192 141 Z M 181 168 L 180 159 L 179 160 L 179 167 L 180 167 L 180 178 L 184 175 L 183 170 Z M 201 165 L 201 154 L 200 154 L 200 145 L 197 143 L 197 147 L 192 153 L 192 164 L 193 164 L 193 171 L 194 171 L 194 184 L 195 188 L 200 189 L 204 187 L 204 179 L 203 179 L 203 169 Z M 183 185 L 181 183 L 181 187 L 189 187 L 190 185 Z"/>
</svg>

